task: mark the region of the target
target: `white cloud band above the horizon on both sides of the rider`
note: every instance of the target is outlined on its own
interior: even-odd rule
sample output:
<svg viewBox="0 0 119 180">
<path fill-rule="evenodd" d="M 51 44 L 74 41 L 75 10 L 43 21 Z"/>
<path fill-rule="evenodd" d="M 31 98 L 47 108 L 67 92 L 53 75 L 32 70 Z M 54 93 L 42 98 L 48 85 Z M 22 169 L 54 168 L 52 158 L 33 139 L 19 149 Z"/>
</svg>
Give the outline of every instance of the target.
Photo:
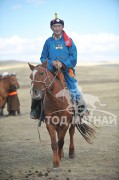
<svg viewBox="0 0 119 180">
<path fill-rule="evenodd" d="M 114 34 L 69 34 L 74 40 L 78 59 L 84 61 L 119 61 L 119 35 Z M 47 37 L 21 38 L 14 35 L 0 38 L 0 60 L 16 59 L 40 62 L 40 54 Z"/>
</svg>

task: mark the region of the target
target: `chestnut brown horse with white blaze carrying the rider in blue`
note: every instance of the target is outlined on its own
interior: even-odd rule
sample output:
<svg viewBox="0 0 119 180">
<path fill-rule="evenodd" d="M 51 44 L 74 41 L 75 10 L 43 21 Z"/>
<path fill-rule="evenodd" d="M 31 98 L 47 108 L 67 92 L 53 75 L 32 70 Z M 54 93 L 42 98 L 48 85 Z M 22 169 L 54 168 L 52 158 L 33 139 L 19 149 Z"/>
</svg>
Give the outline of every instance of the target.
<svg viewBox="0 0 119 180">
<path fill-rule="evenodd" d="M 32 74 L 30 76 L 31 96 L 33 99 L 43 99 L 43 109 L 45 114 L 45 123 L 51 138 L 51 148 L 53 151 L 53 166 L 58 168 L 61 157 L 63 155 L 63 145 L 66 132 L 69 128 L 70 145 L 69 157 L 74 157 L 74 132 L 75 126 L 90 142 L 91 136 L 94 134 L 94 129 L 85 123 L 79 125 L 73 123 L 73 115 L 67 111 L 69 103 L 67 98 L 57 98 L 56 94 L 63 89 L 61 81 L 53 75 L 46 67 L 47 62 L 36 67 L 29 64 Z M 57 141 L 58 139 L 58 141 Z"/>
</svg>

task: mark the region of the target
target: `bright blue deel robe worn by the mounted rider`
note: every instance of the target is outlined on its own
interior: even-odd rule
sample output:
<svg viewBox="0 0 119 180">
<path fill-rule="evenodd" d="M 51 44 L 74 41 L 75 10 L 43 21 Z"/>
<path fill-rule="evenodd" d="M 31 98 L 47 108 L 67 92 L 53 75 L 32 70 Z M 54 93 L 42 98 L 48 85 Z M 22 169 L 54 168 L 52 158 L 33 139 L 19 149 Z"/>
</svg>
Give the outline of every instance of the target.
<svg viewBox="0 0 119 180">
<path fill-rule="evenodd" d="M 68 70 L 69 68 L 72 68 L 75 73 L 74 67 L 77 63 L 77 49 L 74 42 L 72 41 L 72 46 L 67 47 L 63 36 L 58 40 L 53 37 L 48 38 L 43 46 L 40 60 L 43 63 L 47 58 L 47 68 L 51 72 L 55 71 L 55 68 L 52 65 L 54 60 L 58 60 L 66 66 L 66 69 L 63 72 L 66 85 L 73 97 L 73 100 L 79 99 L 80 92 L 78 90 L 78 82 L 75 78 L 69 75 Z"/>
</svg>

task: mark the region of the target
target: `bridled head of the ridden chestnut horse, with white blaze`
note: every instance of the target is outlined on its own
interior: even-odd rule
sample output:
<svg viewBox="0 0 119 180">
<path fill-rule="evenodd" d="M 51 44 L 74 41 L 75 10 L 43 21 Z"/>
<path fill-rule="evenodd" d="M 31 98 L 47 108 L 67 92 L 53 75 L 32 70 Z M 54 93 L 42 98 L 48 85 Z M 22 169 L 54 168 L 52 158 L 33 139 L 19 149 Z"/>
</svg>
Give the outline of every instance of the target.
<svg viewBox="0 0 119 180">
<path fill-rule="evenodd" d="M 42 99 L 44 94 L 51 89 L 51 79 L 53 75 L 47 70 L 47 62 L 42 65 L 29 64 L 32 73 L 30 75 L 31 82 L 31 96 L 33 99 Z"/>
</svg>

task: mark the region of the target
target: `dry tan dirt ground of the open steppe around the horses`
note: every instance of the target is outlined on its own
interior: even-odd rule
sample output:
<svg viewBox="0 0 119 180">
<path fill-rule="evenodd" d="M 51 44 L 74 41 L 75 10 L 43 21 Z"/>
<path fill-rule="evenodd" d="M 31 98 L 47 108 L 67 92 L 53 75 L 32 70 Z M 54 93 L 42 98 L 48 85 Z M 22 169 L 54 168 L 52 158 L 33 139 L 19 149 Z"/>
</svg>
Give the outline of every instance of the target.
<svg viewBox="0 0 119 180">
<path fill-rule="evenodd" d="M 39 141 L 37 121 L 29 118 L 30 70 L 27 63 L 1 64 L 0 73 L 16 72 L 21 116 L 0 118 L 0 180 L 117 180 L 119 179 L 119 66 L 82 66 L 76 69 L 83 93 L 99 97 L 94 111 L 96 138 L 88 144 L 75 132 L 75 158 L 69 159 L 69 135 L 60 170 L 52 170 L 49 134 L 43 123 Z M 113 117 L 112 121 L 109 121 Z M 107 117 L 107 119 L 105 119 Z M 100 120 L 100 121 L 99 121 Z M 99 123 L 100 122 L 100 123 Z"/>
</svg>

